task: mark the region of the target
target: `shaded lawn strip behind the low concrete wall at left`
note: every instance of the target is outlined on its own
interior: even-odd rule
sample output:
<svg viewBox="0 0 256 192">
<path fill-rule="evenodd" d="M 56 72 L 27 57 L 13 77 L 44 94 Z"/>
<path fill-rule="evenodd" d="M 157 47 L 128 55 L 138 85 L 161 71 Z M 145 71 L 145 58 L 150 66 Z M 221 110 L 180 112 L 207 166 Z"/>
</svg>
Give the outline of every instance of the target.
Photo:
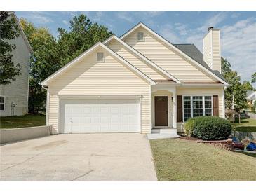
<svg viewBox="0 0 256 192">
<path fill-rule="evenodd" d="M 6 116 L 0 118 L 1 129 L 25 128 L 46 125 L 46 116 L 31 115 L 25 116 Z"/>
</svg>

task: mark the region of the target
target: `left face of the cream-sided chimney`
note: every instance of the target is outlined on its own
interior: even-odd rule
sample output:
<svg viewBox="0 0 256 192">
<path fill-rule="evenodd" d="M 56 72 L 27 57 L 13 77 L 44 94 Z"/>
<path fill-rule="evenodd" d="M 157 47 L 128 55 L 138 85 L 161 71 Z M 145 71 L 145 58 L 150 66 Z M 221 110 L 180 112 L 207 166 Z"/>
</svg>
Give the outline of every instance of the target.
<svg viewBox="0 0 256 192">
<path fill-rule="evenodd" d="M 210 69 L 213 69 L 213 45 L 212 45 L 212 31 L 208 32 L 203 38 L 203 60 L 208 64 Z"/>
</svg>

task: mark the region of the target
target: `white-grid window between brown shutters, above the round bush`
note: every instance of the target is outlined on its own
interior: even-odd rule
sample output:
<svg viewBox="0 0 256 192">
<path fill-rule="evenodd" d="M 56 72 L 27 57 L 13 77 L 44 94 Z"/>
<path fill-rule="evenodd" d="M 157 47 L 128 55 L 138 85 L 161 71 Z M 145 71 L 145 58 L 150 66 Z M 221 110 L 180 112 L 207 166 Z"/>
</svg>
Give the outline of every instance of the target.
<svg viewBox="0 0 256 192">
<path fill-rule="evenodd" d="M 183 120 L 195 116 L 212 116 L 212 96 L 183 96 Z"/>
</svg>

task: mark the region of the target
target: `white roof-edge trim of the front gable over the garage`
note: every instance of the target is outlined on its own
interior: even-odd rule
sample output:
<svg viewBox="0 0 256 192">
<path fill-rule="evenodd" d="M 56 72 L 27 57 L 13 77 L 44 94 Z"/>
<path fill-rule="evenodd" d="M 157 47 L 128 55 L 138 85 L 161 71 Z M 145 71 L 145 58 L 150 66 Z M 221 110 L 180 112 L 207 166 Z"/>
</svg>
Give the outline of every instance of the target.
<svg viewBox="0 0 256 192">
<path fill-rule="evenodd" d="M 153 81 L 151 78 L 149 78 L 147 75 L 143 74 L 142 71 L 140 71 L 139 69 L 135 68 L 132 64 L 130 64 L 129 62 L 127 62 L 126 60 L 124 60 L 121 56 L 119 56 L 117 53 L 114 53 L 113 50 L 111 50 L 110 48 L 108 48 L 107 46 L 105 46 L 103 43 L 98 42 L 96 43 L 94 46 L 92 46 L 91 48 L 89 48 L 88 50 L 86 50 L 85 52 L 83 52 L 81 55 L 79 55 L 79 57 L 76 57 L 74 60 L 72 60 L 71 62 L 69 62 L 68 64 L 66 64 L 64 67 L 60 68 L 58 71 L 55 71 L 54 74 L 48 76 L 48 78 L 46 78 L 45 80 L 43 80 L 41 82 L 41 85 L 48 85 L 48 83 L 50 81 L 52 81 L 53 79 L 57 78 L 58 76 L 60 76 L 60 74 L 63 74 L 65 71 L 67 71 L 68 69 L 70 69 L 72 66 L 74 66 L 74 64 L 76 64 L 77 61 L 81 60 L 82 57 L 86 57 L 87 55 L 89 55 L 90 53 L 93 53 L 93 51 L 97 50 L 97 48 L 103 48 L 105 49 L 110 55 L 112 55 L 114 58 L 116 58 L 116 60 L 119 60 L 120 62 L 122 62 L 123 64 L 126 65 L 126 67 L 128 67 L 131 71 L 135 72 L 135 74 L 137 74 L 138 76 L 140 76 L 141 78 L 143 78 L 145 81 L 149 82 L 151 85 L 156 85 L 156 82 Z"/>
</svg>

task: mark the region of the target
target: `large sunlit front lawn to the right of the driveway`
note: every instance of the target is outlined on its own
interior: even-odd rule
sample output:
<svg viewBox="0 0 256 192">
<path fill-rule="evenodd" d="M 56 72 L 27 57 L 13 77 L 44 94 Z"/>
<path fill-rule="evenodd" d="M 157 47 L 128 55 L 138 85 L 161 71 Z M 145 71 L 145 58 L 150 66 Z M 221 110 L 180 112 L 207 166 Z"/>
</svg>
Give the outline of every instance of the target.
<svg viewBox="0 0 256 192">
<path fill-rule="evenodd" d="M 182 139 L 150 140 L 159 180 L 256 180 L 256 158 Z"/>
</svg>

